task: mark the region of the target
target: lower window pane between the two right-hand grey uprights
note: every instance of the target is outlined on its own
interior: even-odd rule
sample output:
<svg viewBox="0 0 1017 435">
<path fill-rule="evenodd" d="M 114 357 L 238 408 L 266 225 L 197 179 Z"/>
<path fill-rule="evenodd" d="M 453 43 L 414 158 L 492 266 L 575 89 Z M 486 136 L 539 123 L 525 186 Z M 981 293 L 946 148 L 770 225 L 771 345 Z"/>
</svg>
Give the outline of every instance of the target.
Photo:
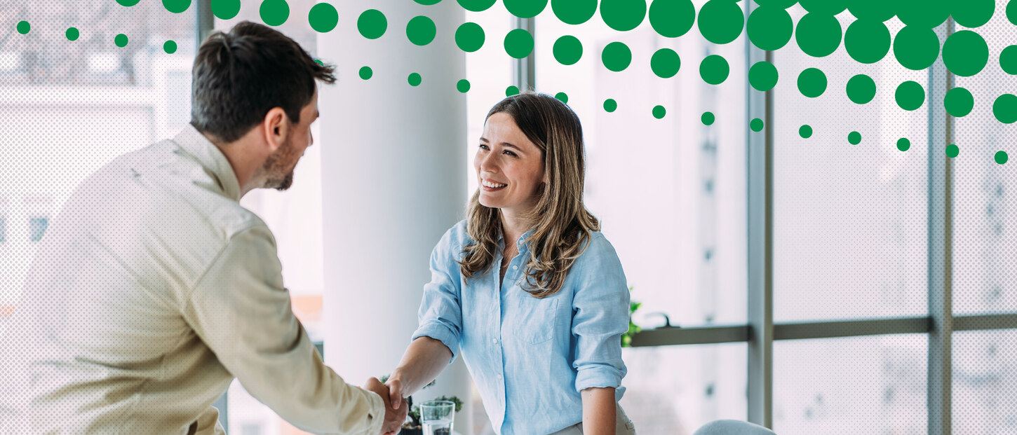
<svg viewBox="0 0 1017 435">
<path fill-rule="evenodd" d="M 773 349 L 775 432 L 925 433 L 928 335 L 782 340 Z"/>
</svg>

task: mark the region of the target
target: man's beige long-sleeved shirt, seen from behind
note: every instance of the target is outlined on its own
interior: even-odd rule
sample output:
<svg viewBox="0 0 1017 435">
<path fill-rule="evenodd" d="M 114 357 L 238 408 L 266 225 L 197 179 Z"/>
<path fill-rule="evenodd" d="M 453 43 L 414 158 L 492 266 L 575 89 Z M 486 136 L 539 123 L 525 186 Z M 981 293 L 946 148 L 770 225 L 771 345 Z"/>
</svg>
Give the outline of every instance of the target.
<svg viewBox="0 0 1017 435">
<path fill-rule="evenodd" d="M 221 434 L 236 377 L 302 430 L 377 435 L 381 398 L 322 364 L 239 199 L 191 126 L 82 182 L 0 341 L 0 433 Z"/>
</svg>

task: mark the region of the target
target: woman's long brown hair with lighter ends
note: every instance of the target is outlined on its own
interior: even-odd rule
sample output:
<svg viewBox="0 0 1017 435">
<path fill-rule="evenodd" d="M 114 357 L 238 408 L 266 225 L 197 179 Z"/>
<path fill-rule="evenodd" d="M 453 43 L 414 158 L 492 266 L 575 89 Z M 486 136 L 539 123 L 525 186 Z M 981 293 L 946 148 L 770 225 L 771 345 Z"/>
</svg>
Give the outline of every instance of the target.
<svg viewBox="0 0 1017 435">
<path fill-rule="evenodd" d="M 508 97 L 494 105 L 487 118 L 496 113 L 512 116 L 543 156 L 547 183 L 525 216 L 533 233 L 525 241 L 530 259 L 523 287 L 536 298 L 546 298 L 561 290 L 569 270 L 586 249 L 584 242 L 591 232 L 600 231 L 600 223 L 583 204 L 583 127 L 564 103 L 542 94 Z M 501 234 L 501 210 L 482 205 L 479 198 L 478 188 L 467 211 L 467 233 L 474 243 L 464 247 L 460 262 L 460 272 L 468 282 L 492 268 Z"/>
</svg>

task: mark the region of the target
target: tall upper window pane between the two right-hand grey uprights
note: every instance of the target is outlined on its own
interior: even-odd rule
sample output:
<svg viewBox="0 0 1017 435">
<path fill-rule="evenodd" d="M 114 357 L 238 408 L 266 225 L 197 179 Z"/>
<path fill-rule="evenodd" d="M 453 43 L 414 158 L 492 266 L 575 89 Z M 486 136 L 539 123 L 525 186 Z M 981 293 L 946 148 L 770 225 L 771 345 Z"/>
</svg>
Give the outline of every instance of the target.
<svg viewBox="0 0 1017 435">
<path fill-rule="evenodd" d="M 804 14 L 800 6 L 788 11 L 795 22 Z M 853 21 L 848 11 L 837 18 L 842 28 Z M 892 35 L 903 26 L 896 17 L 886 24 Z M 892 53 L 860 64 L 843 44 L 816 59 L 793 39 L 773 57 L 780 77 L 772 126 L 774 320 L 924 315 L 932 103 L 908 112 L 894 95 L 908 80 L 928 89 L 928 71 L 900 66 Z M 817 66 L 826 90 L 804 97 L 799 74 Z M 868 104 L 847 97 L 855 74 L 876 83 Z M 812 129 L 809 138 L 799 134 L 803 125 Z M 860 133 L 860 143 L 849 142 L 851 132 Z M 906 151 L 897 147 L 900 138 L 910 141 Z"/>
</svg>

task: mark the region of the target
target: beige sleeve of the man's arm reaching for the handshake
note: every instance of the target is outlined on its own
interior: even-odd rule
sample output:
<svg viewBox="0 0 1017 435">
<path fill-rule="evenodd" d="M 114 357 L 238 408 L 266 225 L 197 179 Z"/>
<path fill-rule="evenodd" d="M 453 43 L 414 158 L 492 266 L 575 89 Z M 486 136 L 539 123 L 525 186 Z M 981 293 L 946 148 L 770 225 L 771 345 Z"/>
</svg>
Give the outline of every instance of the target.
<svg viewBox="0 0 1017 435">
<path fill-rule="evenodd" d="M 325 366 L 293 315 L 266 227 L 233 236 L 184 304 L 185 320 L 223 366 L 280 417 L 315 433 L 380 433 L 381 397 Z"/>
</svg>

